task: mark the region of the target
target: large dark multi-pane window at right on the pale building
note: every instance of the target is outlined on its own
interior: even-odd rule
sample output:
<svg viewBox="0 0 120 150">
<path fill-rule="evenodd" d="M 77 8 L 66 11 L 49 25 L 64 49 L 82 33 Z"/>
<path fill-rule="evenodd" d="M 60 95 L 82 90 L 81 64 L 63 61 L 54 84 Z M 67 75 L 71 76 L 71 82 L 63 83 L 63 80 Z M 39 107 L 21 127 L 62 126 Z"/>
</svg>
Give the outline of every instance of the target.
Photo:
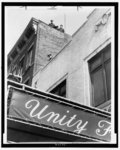
<svg viewBox="0 0 120 150">
<path fill-rule="evenodd" d="M 111 98 L 111 45 L 89 61 L 92 105 L 97 107 Z"/>
</svg>

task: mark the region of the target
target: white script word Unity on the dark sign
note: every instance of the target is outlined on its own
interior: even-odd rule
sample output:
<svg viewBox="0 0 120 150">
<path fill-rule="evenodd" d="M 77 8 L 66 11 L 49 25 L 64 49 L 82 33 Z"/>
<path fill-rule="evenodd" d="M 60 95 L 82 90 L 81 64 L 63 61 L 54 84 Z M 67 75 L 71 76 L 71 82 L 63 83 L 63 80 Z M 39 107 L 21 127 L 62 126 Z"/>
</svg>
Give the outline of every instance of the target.
<svg viewBox="0 0 120 150">
<path fill-rule="evenodd" d="M 75 127 L 73 132 L 80 134 L 82 131 L 87 130 L 86 126 L 88 121 L 83 123 L 82 120 L 76 120 L 77 115 L 67 118 L 67 115 L 61 116 L 59 113 L 47 112 L 48 105 L 45 105 L 43 108 L 40 108 L 40 102 L 38 100 L 32 99 L 25 104 L 27 109 L 30 109 L 30 117 L 36 117 L 37 119 L 46 119 L 47 122 L 52 122 L 53 124 L 59 124 L 60 126 L 65 126 L 67 128 Z M 69 110 L 66 111 L 69 113 Z M 65 121 L 66 120 L 66 121 Z"/>
</svg>

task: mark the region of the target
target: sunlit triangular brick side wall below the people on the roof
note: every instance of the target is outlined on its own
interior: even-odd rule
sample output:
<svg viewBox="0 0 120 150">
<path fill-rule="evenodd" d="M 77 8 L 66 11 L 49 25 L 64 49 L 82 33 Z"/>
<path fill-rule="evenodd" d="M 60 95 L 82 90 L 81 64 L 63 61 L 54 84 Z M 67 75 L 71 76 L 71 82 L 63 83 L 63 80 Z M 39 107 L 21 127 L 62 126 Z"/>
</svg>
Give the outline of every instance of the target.
<svg viewBox="0 0 120 150">
<path fill-rule="evenodd" d="M 48 57 L 49 54 L 54 58 L 70 40 L 70 35 L 40 22 L 37 29 L 34 75 L 50 61 Z"/>
</svg>

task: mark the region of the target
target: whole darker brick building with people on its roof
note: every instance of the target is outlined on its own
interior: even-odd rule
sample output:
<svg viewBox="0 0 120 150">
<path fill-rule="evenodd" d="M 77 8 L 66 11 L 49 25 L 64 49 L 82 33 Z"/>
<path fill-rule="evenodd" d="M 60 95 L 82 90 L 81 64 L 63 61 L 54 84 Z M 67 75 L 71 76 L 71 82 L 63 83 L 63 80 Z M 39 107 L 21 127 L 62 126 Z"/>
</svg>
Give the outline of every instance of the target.
<svg viewBox="0 0 120 150">
<path fill-rule="evenodd" d="M 31 85 L 32 78 L 51 61 L 71 36 L 32 18 L 8 54 L 8 75 L 22 77 L 22 83 Z"/>
</svg>

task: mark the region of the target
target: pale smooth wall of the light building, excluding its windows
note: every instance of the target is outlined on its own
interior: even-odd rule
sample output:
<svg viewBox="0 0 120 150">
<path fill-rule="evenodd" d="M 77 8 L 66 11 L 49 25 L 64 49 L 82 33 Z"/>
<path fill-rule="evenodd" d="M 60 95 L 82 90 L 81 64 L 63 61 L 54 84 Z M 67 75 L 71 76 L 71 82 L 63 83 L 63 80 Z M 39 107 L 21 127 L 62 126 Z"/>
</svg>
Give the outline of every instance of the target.
<svg viewBox="0 0 120 150">
<path fill-rule="evenodd" d="M 88 60 L 110 42 L 111 15 L 101 23 L 108 9 L 95 9 L 73 35 L 72 41 L 34 78 L 32 86 L 47 91 L 63 76 L 67 77 L 67 98 L 90 106 Z M 96 30 L 98 29 L 98 30 Z M 48 90 L 49 91 L 49 90 Z"/>
</svg>

